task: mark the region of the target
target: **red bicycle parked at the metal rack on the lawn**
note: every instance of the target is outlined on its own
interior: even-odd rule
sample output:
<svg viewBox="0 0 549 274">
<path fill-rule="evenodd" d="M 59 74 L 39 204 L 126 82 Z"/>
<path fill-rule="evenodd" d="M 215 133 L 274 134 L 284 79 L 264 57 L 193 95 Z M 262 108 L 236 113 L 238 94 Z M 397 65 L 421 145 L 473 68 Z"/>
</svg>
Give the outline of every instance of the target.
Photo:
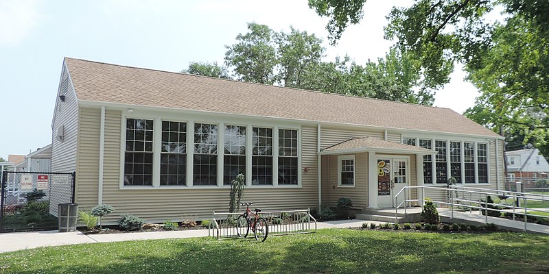
<svg viewBox="0 0 549 274">
<path fill-rule="evenodd" d="M 236 233 L 238 236 L 246 238 L 250 229 L 252 229 L 256 240 L 264 242 L 268 235 L 267 221 L 259 216 L 261 210 L 256 208 L 254 212 L 250 210 L 250 205 L 254 203 L 240 203 L 240 206 L 246 206 L 246 212 L 236 219 Z"/>
</svg>

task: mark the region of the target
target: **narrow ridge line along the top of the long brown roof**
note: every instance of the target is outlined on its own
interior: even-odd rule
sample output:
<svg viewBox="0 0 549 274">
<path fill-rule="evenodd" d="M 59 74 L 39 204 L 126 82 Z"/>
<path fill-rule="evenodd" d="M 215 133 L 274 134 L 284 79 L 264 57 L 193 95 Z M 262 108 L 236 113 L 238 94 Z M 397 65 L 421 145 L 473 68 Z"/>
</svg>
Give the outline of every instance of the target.
<svg viewBox="0 0 549 274">
<path fill-rule="evenodd" d="M 292 88 L 292 87 L 287 87 L 287 86 L 276 86 L 274 84 L 273 85 L 268 85 L 268 84 L 261 84 L 261 83 L 255 83 L 255 82 L 245 82 L 245 81 L 239 81 L 239 80 L 235 80 L 235 79 L 225 79 L 225 78 L 210 77 L 210 76 L 196 75 L 196 74 L 190 74 L 190 73 L 176 73 L 176 72 L 173 72 L 173 71 L 162 71 L 160 69 L 147 69 L 147 68 L 142 68 L 142 67 L 138 67 L 138 66 L 126 66 L 126 65 L 121 65 L 121 64 L 112 64 L 112 63 L 106 63 L 106 62 L 85 60 L 85 59 L 80 59 L 80 58 L 65 57 L 65 59 L 78 60 L 78 61 L 82 61 L 82 62 L 91 62 L 91 63 L 95 63 L 95 64 L 105 64 L 105 65 L 109 65 L 109 66 L 119 66 L 119 67 L 128 68 L 128 69 L 139 69 L 139 70 L 143 70 L 143 71 L 157 71 L 157 72 L 161 72 L 161 73 L 171 73 L 171 74 L 175 74 L 175 75 L 187 75 L 187 76 L 191 76 L 191 77 L 202 77 L 202 78 L 207 78 L 207 79 L 237 82 L 237 83 L 242 83 L 242 84 L 254 84 L 254 85 L 259 85 L 259 86 L 270 86 L 270 87 L 274 87 L 274 88 L 292 89 L 292 90 L 299 90 L 301 92 L 314 92 L 314 93 L 323 94 L 323 95 L 338 95 L 338 96 L 348 97 L 348 98 L 382 101 L 382 102 L 386 102 L 386 103 L 396 103 L 396 104 L 404 103 L 404 104 L 407 104 L 407 105 L 414 105 L 414 106 L 426 107 L 426 108 L 438 108 L 438 109 L 441 109 L 441 110 L 450 110 L 452 112 L 455 112 L 451 108 L 441 108 L 441 107 L 437 107 L 437 106 L 434 106 L 434 105 L 421 105 L 419 103 L 391 101 L 391 100 L 386 100 L 386 99 L 363 97 L 363 96 L 357 96 L 357 95 L 346 95 L 346 94 L 341 94 L 341 93 L 324 92 L 324 91 L 319 91 L 319 90 L 306 90 L 306 89 L 303 89 L 303 88 Z M 456 113 L 458 113 L 458 112 L 456 112 Z"/>
</svg>

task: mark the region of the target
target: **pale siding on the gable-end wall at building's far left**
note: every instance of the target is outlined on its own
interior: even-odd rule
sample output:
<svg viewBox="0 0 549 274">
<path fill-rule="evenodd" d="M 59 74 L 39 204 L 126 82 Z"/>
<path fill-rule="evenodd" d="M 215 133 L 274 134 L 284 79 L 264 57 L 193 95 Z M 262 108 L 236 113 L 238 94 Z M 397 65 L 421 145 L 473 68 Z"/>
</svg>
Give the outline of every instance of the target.
<svg viewBox="0 0 549 274">
<path fill-rule="evenodd" d="M 51 125 L 51 172 L 73 172 L 76 170 L 78 144 L 78 101 L 65 66 L 61 75 L 58 95 L 65 95 L 65 102 L 56 100 Z M 61 126 L 64 129 L 62 141 L 57 139 L 57 130 Z M 51 184 L 49 202 L 49 212 L 57 216 L 58 204 L 71 202 L 71 186 Z"/>
</svg>

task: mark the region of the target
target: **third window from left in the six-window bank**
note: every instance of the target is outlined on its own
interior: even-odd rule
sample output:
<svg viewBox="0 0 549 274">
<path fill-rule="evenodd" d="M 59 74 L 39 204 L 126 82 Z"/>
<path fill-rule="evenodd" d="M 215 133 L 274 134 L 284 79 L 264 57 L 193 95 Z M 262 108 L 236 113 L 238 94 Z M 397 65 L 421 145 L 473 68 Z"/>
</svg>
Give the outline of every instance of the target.
<svg viewBox="0 0 549 274">
<path fill-rule="evenodd" d="M 218 125 L 194 124 L 193 160 L 193 185 L 217 185 Z"/>
</svg>

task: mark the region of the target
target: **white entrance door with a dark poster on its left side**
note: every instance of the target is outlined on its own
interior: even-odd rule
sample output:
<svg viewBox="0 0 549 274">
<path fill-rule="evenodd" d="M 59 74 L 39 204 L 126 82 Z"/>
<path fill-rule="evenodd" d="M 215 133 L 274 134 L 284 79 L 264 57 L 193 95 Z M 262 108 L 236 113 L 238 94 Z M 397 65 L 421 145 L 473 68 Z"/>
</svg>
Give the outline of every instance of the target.
<svg viewBox="0 0 549 274">
<path fill-rule="evenodd" d="M 404 193 L 395 203 L 395 195 L 408 186 L 408 162 L 405 157 L 377 158 L 377 206 L 379 208 L 395 208 L 404 201 Z M 407 197 L 409 197 L 408 193 Z"/>
</svg>

